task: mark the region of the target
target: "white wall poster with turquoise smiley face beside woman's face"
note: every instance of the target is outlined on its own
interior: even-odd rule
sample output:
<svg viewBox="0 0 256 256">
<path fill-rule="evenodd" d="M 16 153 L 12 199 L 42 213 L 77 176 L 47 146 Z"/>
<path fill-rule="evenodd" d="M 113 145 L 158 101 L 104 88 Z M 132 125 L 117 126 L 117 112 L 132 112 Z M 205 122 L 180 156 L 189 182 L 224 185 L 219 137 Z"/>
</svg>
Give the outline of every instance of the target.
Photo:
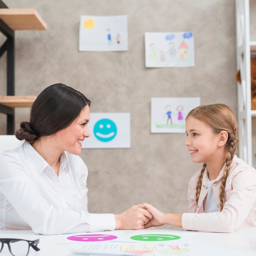
<svg viewBox="0 0 256 256">
<path fill-rule="evenodd" d="M 130 113 L 90 113 L 82 148 L 130 148 Z"/>
</svg>

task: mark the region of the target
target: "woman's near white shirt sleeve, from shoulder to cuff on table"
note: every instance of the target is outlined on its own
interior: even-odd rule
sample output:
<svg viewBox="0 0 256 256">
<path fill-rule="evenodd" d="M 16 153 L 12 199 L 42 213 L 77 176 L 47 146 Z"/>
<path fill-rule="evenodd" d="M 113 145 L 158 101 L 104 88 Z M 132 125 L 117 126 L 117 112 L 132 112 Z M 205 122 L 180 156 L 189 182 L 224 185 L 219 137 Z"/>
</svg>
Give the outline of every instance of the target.
<svg viewBox="0 0 256 256">
<path fill-rule="evenodd" d="M 52 235 L 115 229 L 113 214 L 90 214 L 49 204 L 22 161 L 1 155 L 0 166 L 0 192 L 35 233 Z"/>
</svg>

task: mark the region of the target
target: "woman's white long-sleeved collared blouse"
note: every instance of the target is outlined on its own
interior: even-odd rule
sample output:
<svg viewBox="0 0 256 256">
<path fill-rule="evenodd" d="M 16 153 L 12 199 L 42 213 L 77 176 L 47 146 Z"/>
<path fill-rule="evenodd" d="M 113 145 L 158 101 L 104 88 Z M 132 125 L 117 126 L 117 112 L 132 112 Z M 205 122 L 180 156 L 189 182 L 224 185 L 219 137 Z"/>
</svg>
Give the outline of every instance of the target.
<svg viewBox="0 0 256 256">
<path fill-rule="evenodd" d="M 59 175 L 25 142 L 0 153 L 0 229 L 65 234 L 115 229 L 113 214 L 88 213 L 88 168 L 61 155 Z"/>
</svg>

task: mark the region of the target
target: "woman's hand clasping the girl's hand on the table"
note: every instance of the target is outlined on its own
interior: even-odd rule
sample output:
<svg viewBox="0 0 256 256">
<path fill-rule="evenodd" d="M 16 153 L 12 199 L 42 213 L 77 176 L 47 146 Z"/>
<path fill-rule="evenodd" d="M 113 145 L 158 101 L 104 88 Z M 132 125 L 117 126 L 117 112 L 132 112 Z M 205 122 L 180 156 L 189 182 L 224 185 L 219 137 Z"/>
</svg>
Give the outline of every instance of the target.
<svg viewBox="0 0 256 256">
<path fill-rule="evenodd" d="M 115 229 L 144 229 L 153 215 L 146 209 L 146 204 L 133 205 L 121 214 L 115 214 Z"/>
</svg>

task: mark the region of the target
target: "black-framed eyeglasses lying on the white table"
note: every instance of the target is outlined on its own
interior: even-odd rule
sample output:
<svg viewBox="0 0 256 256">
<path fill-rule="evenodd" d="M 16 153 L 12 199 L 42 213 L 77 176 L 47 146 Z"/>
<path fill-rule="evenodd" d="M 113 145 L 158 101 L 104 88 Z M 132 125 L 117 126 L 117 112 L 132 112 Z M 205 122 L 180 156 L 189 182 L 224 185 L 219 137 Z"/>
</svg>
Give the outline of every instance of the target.
<svg viewBox="0 0 256 256">
<path fill-rule="evenodd" d="M 5 243 L 7 243 L 9 251 L 13 256 L 27 256 L 30 246 L 36 251 L 40 250 L 37 247 L 39 239 L 29 241 L 24 239 L 0 238 L 0 252 L 2 252 Z"/>
</svg>

